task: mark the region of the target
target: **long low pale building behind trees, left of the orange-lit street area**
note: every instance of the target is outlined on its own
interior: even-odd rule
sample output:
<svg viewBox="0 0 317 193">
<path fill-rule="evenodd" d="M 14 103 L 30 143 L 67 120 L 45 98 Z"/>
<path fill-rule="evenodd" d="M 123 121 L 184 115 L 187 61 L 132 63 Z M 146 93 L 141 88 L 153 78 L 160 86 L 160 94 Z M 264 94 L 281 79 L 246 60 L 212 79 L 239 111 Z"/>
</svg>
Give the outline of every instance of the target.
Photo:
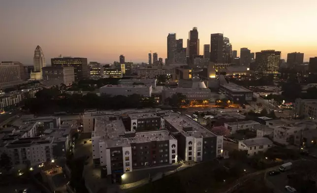
<svg viewBox="0 0 317 193">
<path fill-rule="evenodd" d="M 133 94 L 151 97 L 152 86 L 145 85 L 106 85 L 99 89 L 100 94 L 130 96 Z"/>
</svg>

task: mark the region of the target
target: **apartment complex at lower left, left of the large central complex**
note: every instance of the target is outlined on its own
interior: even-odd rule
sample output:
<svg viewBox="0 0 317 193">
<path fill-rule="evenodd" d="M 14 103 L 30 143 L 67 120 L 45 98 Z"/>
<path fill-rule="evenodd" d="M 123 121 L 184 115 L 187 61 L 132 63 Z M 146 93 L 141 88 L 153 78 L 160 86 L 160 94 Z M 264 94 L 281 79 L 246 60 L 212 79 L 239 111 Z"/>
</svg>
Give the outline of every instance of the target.
<svg viewBox="0 0 317 193">
<path fill-rule="evenodd" d="M 65 157 L 74 132 L 77 132 L 76 121 L 23 115 L 0 128 L 0 155 L 6 153 L 16 168 L 53 161 Z"/>
</svg>

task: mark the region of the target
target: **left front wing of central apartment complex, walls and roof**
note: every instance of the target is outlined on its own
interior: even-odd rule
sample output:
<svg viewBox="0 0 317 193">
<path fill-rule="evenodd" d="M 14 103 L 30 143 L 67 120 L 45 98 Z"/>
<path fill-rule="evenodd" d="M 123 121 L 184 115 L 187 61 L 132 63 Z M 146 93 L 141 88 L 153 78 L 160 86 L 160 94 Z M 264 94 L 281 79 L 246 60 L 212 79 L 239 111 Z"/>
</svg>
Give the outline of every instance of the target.
<svg viewBox="0 0 317 193">
<path fill-rule="evenodd" d="M 120 117 L 95 119 L 92 149 L 94 163 L 113 178 L 137 168 L 177 162 L 177 140 L 167 130 L 126 131 Z"/>
</svg>

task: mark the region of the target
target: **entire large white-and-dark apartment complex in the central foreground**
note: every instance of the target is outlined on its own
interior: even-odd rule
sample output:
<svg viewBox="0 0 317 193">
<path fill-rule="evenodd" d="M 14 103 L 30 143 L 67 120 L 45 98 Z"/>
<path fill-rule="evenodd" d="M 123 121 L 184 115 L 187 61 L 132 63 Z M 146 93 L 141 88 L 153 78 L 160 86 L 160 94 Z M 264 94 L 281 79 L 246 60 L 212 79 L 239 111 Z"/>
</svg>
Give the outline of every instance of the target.
<svg viewBox="0 0 317 193">
<path fill-rule="evenodd" d="M 172 111 L 90 110 L 85 112 L 83 123 L 84 131 L 92 132 L 94 163 L 104 167 L 107 175 L 222 156 L 221 135 Z"/>
</svg>

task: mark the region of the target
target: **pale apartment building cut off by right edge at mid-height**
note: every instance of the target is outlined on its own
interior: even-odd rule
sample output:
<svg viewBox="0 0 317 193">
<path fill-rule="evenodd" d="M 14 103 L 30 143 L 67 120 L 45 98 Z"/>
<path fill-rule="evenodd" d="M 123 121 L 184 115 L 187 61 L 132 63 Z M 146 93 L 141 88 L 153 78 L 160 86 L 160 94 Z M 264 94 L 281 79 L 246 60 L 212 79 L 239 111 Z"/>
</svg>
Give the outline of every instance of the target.
<svg viewBox="0 0 317 193">
<path fill-rule="evenodd" d="M 317 99 L 297 98 L 294 104 L 294 113 L 299 117 L 317 119 Z"/>
</svg>

